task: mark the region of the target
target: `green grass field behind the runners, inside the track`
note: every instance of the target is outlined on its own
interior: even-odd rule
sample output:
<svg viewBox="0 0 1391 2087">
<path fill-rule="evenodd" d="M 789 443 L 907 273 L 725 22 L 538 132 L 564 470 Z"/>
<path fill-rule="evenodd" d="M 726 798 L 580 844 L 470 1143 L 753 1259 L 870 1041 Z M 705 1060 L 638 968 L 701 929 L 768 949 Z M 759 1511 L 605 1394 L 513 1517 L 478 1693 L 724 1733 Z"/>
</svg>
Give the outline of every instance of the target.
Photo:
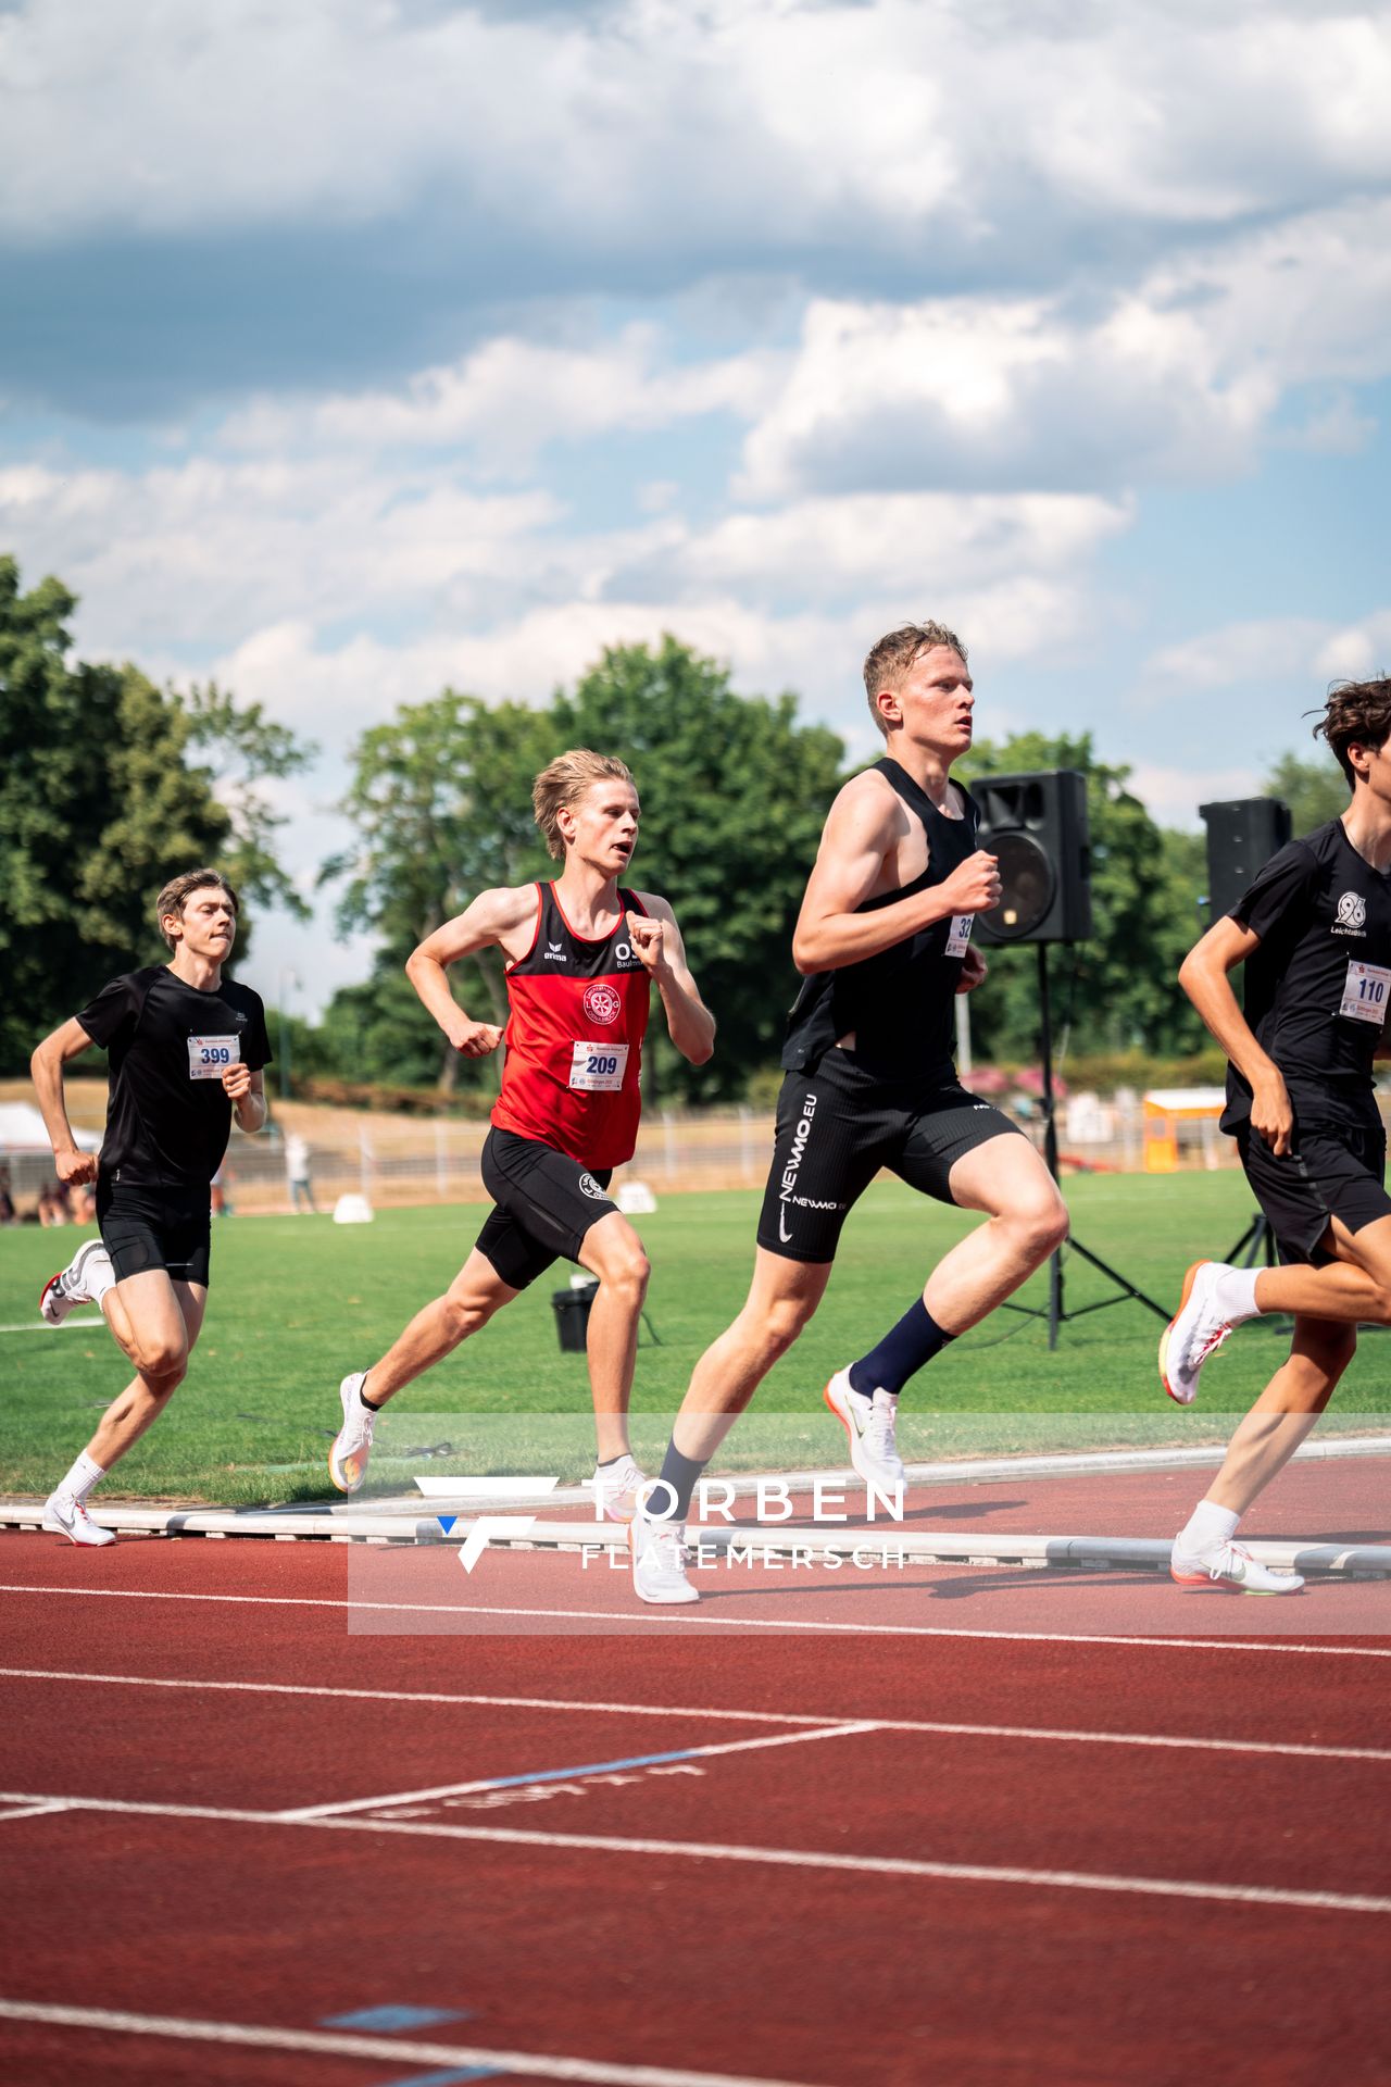
<svg viewBox="0 0 1391 2087">
<path fill-rule="evenodd" d="M 1237 1173 L 1082 1177 L 1066 1192 L 1076 1236 L 1160 1302 L 1174 1302 L 1187 1263 L 1226 1250 L 1249 1217 Z M 638 1354 L 640 1457 L 659 1459 L 697 1357 L 742 1304 L 757 1200 L 749 1192 L 669 1196 L 640 1221 L 659 1336 L 655 1346 L 644 1334 Z M 386 1210 L 361 1227 L 309 1217 L 219 1223 L 209 1319 L 190 1375 L 102 1498 L 261 1505 L 330 1496 L 325 1450 L 338 1425 L 338 1380 L 367 1367 L 411 1313 L 444 1290 L 482 1217 L 484 1206 L 457 1206 Z M 843 1434 L 820 1402 L 826 1377 L 907 1309 L 930 1265 L 968 1227 L 897 1183 L 876 1185 L 851 1217 L 820 1315 L 763 1384 L 724 1463 L 843 1463 Z M 35 1315 L 44 1277 L 83 1236 L 0 1233 L 4 1492 L 48 1492 L 127 1377 L 92 1315 L 83 1315 L 86 1327 L 60 1332 L 42 1329 Z M 544 1277 L 400 1394 L 390 1415 L 407 1459 L 438 1453 L 438 1423 L 448 1417 L 448 1442 L 471 1469 L 580 1473 L 592 1455 L 588 1380 L 584 1357 L 559 1352 L 551 1313 L 551 1292 L 567 1273 L 561 1265 L 555 1279 Z M 1082 1261 L 1068 1261 L 1070 1306 L 1105 1290 Z M 1043 1277 L 1022 1300 L 1045 1300 Z M 1151 1313 L 1122 1302 L 1070 1321 L 1049 1352 L 1041 1321 L 999 1313 L 907 1388 L 905 1455 L 1220 1440 L 1230 1413 L 1255 1396 L 1285 1352 L 1280 1327 L 1241 1329 L 1205 1373 L 1199 1407 L 1180 1413 L 1155 1377 L 1157 1334 Z M 1366 1334 L 1333 1425 L 1391 1417 L 1389 1363 L 1389 1336 Z M 382 1469 L 382 1490 L 402 1482 L 400 1471 L 392 1478 Z"/>
</svg>

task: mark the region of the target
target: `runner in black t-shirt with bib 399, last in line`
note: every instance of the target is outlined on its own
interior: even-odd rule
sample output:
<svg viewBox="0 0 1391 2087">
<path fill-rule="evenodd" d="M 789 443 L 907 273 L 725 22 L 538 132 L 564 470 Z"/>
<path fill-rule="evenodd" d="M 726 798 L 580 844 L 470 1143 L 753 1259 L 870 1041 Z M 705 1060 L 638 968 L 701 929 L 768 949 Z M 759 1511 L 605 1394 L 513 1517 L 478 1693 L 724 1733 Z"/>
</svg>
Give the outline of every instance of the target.
<svg viewBox="0 0 1391 2087">
<path fill-rule="evenodd" d="M 44 1286 L 40 1313 L 60 1325 L 73 1304 L 100 1304 L 136 1365 L 44 1507 L 44 1526 L 75 1544 L 115 1542 L 86 1498 L 184 1380 L 209 1296 L 209 1183 L 234 1110 L 244 1131 L 265 1123 L 265 1010 L 248 985 L 221 975 L 236 891 L 217 870 L 190 870 L 165 885 L 154 910 L 173 960 L 113 979 L 31 1060 L 58 1179 L 96 1179 L 100 1225 L 100 1240 Z M 92 1044 L 111 1058 L 100 1160 L 77 1150 L 63 1102 L 63 1069 Z"/>
</svg>

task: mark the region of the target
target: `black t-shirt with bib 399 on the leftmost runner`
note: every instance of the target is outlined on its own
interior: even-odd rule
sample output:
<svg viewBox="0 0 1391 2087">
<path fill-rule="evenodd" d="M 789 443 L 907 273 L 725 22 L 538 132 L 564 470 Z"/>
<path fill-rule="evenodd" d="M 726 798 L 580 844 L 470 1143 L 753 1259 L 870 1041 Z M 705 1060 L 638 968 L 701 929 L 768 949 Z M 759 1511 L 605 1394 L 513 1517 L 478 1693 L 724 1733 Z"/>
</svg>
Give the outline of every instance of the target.
<svg viewBox="0 0 1391 2087">
<path fill-rule="evenodd" d="M 111 1054 L 102 1181 L 204 1192 L 231 1135 L 219 1075 L 271 1058 L 261 995 L 236 979 L 202 993 L 150 964 L 111 979 L 77 1021 Z"/>
</svg>

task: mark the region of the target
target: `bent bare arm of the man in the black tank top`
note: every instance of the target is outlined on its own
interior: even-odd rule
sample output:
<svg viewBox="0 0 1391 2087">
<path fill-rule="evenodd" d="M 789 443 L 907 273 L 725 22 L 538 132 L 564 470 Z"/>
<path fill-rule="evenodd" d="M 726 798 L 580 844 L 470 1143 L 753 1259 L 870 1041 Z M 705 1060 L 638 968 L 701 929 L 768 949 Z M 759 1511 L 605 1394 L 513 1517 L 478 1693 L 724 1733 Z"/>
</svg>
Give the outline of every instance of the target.
<svg viewBox="0 0 1391 2087">
<path fill-rule="evenodd" d="M 999 899 L 995 856 L 980 849 L 941 885 L 868 914 L 855 912 L 874 893 L 895 843 L 897 808 L 899 799 L 878 776 L 855 776 L 832 803 L 792 933 L 792 962 L 803 977 L 859 964 L 934 920 L 989 912 Z"/>
</svg>

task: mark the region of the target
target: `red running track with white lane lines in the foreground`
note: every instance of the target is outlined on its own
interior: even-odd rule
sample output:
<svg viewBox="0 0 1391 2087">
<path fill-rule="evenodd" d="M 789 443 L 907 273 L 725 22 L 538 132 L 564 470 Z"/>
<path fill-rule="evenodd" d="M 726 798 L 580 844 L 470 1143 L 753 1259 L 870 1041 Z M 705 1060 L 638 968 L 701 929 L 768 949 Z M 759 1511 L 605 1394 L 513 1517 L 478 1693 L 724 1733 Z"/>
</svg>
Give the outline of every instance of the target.
<svg viewBox="0 0 1391 2087">
<path fill-rule="evenodd" d="M 628 1584 L 538 1553 L 8 1536 L 0 1580 L 0 1991 L 96 2024 L 0 2020 L 10 2079 L 1389 2077 L 1376 1586 L 803 1574 L 615 1634 Z M 469 1628 L 363 1630 L 363 1580 Z M 325 2026 L 377 2008 L 432 2016 Z"/>
</svg>

